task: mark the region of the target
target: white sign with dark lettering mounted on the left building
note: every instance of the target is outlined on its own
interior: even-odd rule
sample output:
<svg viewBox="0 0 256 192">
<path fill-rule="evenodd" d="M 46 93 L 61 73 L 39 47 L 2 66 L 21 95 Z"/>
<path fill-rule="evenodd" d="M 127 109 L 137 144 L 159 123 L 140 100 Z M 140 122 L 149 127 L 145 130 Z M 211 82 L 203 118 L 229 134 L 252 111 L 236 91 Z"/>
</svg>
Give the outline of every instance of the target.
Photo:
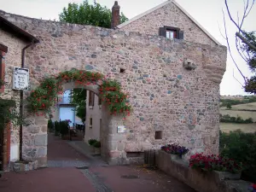
<svg viewBox="0 0 256 192">
<path fill-rule="evenodd" d="M 27 68 L 15 67 L 13 76 L 14 90 L 28 90 L 29 70 Z"/>
</svg>

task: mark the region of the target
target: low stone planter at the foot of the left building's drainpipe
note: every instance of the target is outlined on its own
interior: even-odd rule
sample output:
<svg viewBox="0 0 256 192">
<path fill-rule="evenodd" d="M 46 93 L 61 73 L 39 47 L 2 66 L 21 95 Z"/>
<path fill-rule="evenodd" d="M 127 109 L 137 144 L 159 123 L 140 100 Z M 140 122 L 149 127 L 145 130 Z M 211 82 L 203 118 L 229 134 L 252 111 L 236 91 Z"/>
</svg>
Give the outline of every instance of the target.
<svg viewBox="0 0 256 192">
<path fill-rule="evenodd" d="M 34 161 L 11 161 L 11 171 L 28 172 L 38 169 L 38 160 Z"/>
</svg>

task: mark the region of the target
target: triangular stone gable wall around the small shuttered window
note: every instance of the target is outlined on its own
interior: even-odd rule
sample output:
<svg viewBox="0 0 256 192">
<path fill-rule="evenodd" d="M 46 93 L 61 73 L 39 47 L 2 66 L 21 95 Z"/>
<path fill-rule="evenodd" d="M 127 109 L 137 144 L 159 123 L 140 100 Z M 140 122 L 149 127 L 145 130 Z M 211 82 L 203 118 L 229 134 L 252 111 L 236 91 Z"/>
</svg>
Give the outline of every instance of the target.
<svg viewBox="0 0 256 192">
<path fill-rule="evenodd" d="M 120 27 L 122 31 L 141 32 L 150 35 L 159 35 L 159 29 L 163 26 L 172 26 L 180 28 L 184 32 L 184 39 L 199 44 L 216 43 L 209 38 L 199 26 L 189 19 L 187 15 L 174 3 L 168 3 L 160 9 L 154 10 L 138 20 Z"/>
</svg>

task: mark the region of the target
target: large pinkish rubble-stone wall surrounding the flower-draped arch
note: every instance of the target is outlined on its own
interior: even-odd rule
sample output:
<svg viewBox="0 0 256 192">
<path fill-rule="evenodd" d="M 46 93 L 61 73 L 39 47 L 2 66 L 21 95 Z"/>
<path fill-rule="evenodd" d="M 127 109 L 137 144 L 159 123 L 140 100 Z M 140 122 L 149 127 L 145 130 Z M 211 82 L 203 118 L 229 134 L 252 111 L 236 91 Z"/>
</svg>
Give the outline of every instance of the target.
<svg viewBox="0 0 256 192">
<path fill-rule="evenodd" d="M 118 140 L 125 152 L 178 142 L 193 153 L 218 153 L 224 46 L 0 14 L 40 39 L 26 53 L 31 89 L 44 77 L 72 68 L 97 71 L 122 84 L 133 108 L 127 133 Z M 183 67 L 186 58 L 195 70 Z M 161 139 L 155 139 L 155 131 L 162 131 Z"/>
</svg>

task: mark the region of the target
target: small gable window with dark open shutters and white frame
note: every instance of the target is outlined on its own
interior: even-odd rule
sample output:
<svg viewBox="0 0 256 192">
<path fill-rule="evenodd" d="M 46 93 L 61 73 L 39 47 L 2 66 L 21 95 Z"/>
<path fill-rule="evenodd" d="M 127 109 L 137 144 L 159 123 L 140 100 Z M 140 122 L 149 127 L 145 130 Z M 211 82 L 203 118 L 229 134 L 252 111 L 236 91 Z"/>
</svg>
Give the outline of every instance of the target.
<svg viewBox="0 0 256 192">
<path fill-rule="evenodd" d="M 172 26 L 160 27 L 159 35 L 166 38 L 171 38 L 171 39 L 173 38 L 183 39 L 183 31 L 180 31 L 179 28 L 172 27 Z"/>
</svg>

